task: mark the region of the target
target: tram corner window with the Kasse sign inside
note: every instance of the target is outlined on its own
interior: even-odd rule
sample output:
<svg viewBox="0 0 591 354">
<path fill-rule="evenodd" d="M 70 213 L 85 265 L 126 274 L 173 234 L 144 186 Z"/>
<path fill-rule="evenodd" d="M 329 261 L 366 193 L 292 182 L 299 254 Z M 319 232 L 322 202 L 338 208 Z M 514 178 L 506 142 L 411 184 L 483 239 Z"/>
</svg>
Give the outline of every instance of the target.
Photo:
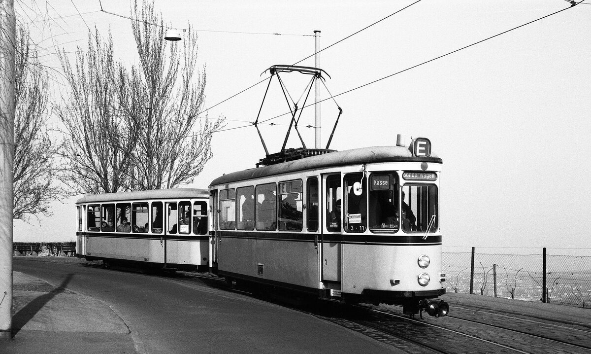
<svg viewBox="0 0 591 354">
<path fill-rule="evenodd" d="M 396 172 L 374 172 L 369 176 L 369 230 L 395 233 L 400 229 L 398 178 Z"/>
</svg>

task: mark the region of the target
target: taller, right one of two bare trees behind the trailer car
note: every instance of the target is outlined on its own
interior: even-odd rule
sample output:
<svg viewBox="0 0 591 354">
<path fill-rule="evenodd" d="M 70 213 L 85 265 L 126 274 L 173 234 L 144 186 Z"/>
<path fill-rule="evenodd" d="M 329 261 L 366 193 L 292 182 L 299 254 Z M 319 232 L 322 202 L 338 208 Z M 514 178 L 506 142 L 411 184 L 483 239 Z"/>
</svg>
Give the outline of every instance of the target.
<svg viewBox="0 0 591 354">
<path fill-rule="evenodd" d="M 131 121 L 138 122 L 139 139 L 132 153 L 134 189 L 173 188 L 189 184 L 212 157 L 212 132 L 223 118 L 210 121 L 203 109 L 206 76 L 196 70 L 197 35 L 184 31 L 178 43 L 164 41 L 165 26 L 154 4 L 133 9 L 132 30 L 139 65 L 131 72 L 119 65 L 119 102 Z"/>
</svg>

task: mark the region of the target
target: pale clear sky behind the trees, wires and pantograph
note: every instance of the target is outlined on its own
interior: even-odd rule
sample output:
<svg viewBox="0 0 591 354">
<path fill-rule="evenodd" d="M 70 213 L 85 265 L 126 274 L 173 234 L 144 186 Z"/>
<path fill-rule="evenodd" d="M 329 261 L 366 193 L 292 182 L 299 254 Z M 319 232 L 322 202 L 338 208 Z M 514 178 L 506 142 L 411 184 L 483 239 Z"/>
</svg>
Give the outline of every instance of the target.
<svg viewBox="0 0 591 354">
<path fill-rule="evenodd" d="M 226 117 L 226 128 L 255 120 L 267 82 L 219 103 L 268 77 L 261 73 L 272 65 L 314 66 L 313 31 L 320 30 L 320 48 L 327 49 L 318 54 L 319 67 L 330 75 L 326 86 L 343 110 L 330 147 L 395 145 L 397 134 L 430 139 L 443 159 L 444 250 L 474 246 L 509 253 L 524 247 L 528 253 L 548 247 L 589 255 L 591 1 L 586 1 L 590 4 L 570 8 L 564 0 L 156 0 L 155 9 L 171 27 L 197 30 L 197 66 L 207 75 L 205 107 L 215 106 L 207 115 Z M 67 91 L 56 48 L 85 47 L 89 28 L 96 26 L 105 38 L 110 28 L 115 56 L 129 65 L 138 62 L 130 20 L 100 12 L 101 5 L 130 16 L 125 1 L 15 2 L 17 18 L 33 22 L 28 24 L 46 49 L 44 65 L 56 73 L 55 102 Z M 454 52 L 561 9 L 566 10 Z M 297 73 L 282 78 L 294 99 L 309 80 Z M 288 112 L 275 79 L 269 92 L 261 120 Z M 330 94 L 322 88 L 320 98 Z M 304 110 L 300 126 L 313 125 L 313 111 Z M 325 145 L 338 111 L 332 100 L 324 101 L 321 111 Z M 272 122 L 260 128 L 274 152 L 281 148 L 289 116 Z M 59 124 L 50 117 L 48 126 Z M 301 131 L 313 146 L 313 129 Z M 252 126 L 215 133 L 212 146 L 213 158 L 189 186 L 207 188 L 222 173 L 253 168 L 265 155 Z M 299 144 L 290 139 L 288 146 Z M 31 224 L 15 220 L 14 242 L 74 240 L 79 197 L 54 203 L 52 217 L 33 218 Z"/>
</svg>

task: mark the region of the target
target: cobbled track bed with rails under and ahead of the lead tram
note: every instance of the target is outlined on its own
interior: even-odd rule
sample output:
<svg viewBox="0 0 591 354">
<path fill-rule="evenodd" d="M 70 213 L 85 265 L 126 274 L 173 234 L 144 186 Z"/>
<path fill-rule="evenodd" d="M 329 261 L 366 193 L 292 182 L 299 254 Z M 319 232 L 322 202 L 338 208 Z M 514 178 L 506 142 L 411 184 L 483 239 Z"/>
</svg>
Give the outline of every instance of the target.
<svg viewBox="0 0 591 354">
<path fill-rule="evenodd" d="M 223 279 L 187 272 L 176 281 L 199 281 L 258 297 L 248 289 L 233 289 Z M 411 354 L 421 353 L 591 353 L 591 329 L 550 319 L 453 306 L 446 317 L 411 318 L 397 306 L 339 305 L 318 301 L 294 304 L 290 299 L 263 300 L 293 308 L 372 337 Z"/>
</svg>

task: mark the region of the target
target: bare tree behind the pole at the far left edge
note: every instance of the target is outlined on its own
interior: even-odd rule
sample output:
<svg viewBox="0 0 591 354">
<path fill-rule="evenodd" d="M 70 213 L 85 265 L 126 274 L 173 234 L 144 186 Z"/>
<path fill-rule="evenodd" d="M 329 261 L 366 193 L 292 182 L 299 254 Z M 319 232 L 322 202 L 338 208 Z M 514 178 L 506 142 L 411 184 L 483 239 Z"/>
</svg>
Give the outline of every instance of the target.
<svg viewBox="0 0 591 354">
<path fill-rule="evenodd" d="M 48 75 L 24 28 L 17 31 L 15 56 L 14 210 L 13 218 L 51 215 L 49 203 L 63 197 L 56 185 L 57 147 L 46 129 Z"/>
</svg>

